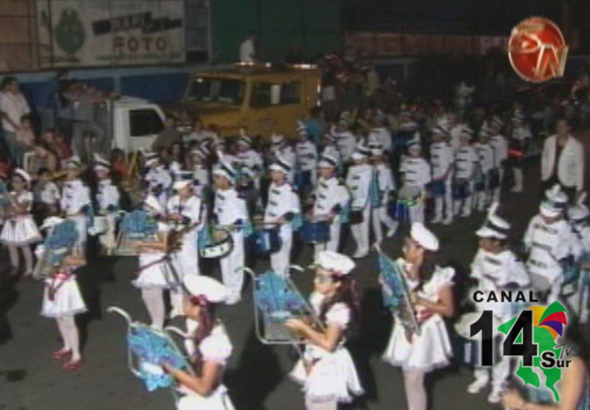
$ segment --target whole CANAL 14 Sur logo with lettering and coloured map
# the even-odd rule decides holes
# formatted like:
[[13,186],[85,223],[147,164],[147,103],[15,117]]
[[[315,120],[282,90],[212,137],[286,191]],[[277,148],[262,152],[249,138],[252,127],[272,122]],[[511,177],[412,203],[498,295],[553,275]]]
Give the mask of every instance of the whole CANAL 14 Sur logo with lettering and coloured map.
[[[524,302],[521,293],[519,291],[515,299]],[[473,296],[476,302],[483,302],[481,295],[476,293]],[[506,295],[496,297],[495,301],[500,302],[504,296]],[[512,295],[506,297],[506,300],[513,302]],[[490,301],[490,297],[487,301]],[[494,297],[491,301],[494,301]],[[528,302],[538,302],[538,300],[531,295]],[[566,313],[567,310],[559,302],[553,302],[549,306],[530,306],[496,328],[496,335],[501,336],[500,355],[520,358],[514,374],[522,379],[525,385],[536,388],[542,388],[540,376],[543,375],[545,388],[553,393],[555,401],[559,401],[556,383],[561,379],[563,368],[567,368],[571,362],[568,355],[576,348],[568,343],[559,344],[557,340],[558,336],[563,336],[565,326],[568,324]],[[470,326],[472,338],[481,335],[481,357],[479,358],[481,366],[493,366],[500,359],[494,358],[493,326],[491,310],[484,310]]]

